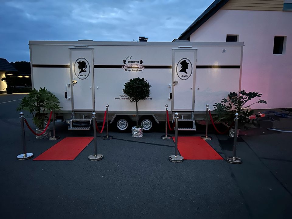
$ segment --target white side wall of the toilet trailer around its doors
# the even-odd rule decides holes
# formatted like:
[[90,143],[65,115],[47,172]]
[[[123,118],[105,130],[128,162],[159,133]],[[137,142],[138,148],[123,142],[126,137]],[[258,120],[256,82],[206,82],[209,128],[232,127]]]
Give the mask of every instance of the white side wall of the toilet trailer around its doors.
[[[136,77],[145,78],[151,85],[151,94],[149,99],[138,102],[139,111],[148,114],[160,112],[164,115],[165,104],[169,105],[170,110],[174,101],[170,99],[170,93],[174,91],[176,95],[173,89],[173,68],[178,66],[176,63],[181,65],[183,59],[191,59],[192,83],[182,87],[189,89],[191,95],[185,98],[182,92],[180,96],[175,96],[181,101],[179,105],[182,105],[177,106],[176,110],[204,112],[206,103],[212,106],[213,101],[220,101],[231,89],[239,89],[242,45],[223,42],[30,41],[33,85],[36,89],[46,87],[53,92],[61,102],[62,111],[90,111],[88,107],[82,107],[84,102],[94,103],[94,110],[99,113],[105,110],[106,104],[109,104],[111,112],[134,113],[135,103],[130,103],[123,94],[123,85]],[[223,49],[225,53],[222,53]],[[89,76],[93,76],[92,96],[83,95],[83,88],[76,91],[76,97],[72,94],[72,90],[75,92],[74,86],[81,83],[77,81],[72,86],[72,81],[76,80],[76,74],[72,71],[76,66],[72,65],[81,56],[76,53],[71,64],[70,51],[78,50],[93,51],[93,68],[92,64],[88,64],[91,68]],[[174,64],[173,51],[180,52],[179,60]],[[67,88],[67,96],[71,99],[65,98],[66,84],[71,85]],[[197,87],[200,89],[197,90]],[[72,101],[74,103],[76,99],[79,99],[79,105],[72,107]],[[185,106],[186,103],[190,103],[190,106]]]

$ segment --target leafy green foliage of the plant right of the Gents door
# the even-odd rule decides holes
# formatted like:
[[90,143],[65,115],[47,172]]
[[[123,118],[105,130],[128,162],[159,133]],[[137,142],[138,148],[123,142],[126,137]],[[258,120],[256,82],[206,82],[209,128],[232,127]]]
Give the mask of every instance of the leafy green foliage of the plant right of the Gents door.
[[249,107],[255,103],[265,103],[265,100],[259,99],[257,102],[249,104],[248,102],[256,97],[261,97],[262,94],[259,92],[245,92],[241,90],[239,94],[237,92],[230,92],[228,99],[224,98],[220,103],[215,103],[214,110],[216,114],[213,116],[214,120],[218,123],[225,123],[228,126],[234,121],[235,113],[238,113],[238,122],[246,123],[249,122],[249,116],[254,114],[254,110],[245,110],[243,108]]

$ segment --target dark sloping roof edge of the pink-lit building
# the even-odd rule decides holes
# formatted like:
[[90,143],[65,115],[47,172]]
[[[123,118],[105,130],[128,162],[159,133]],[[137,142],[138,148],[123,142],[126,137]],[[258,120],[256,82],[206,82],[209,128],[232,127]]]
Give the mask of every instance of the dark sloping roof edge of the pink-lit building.
[[186,29],[185,32],[183,32],[179,36],[179,40],[189,40],[190,35],[195,32],[200,26],[203,25],[211,16],[213,16],[219,9],[222,8],[223,5],[225,5],[228,2],[228,0],[215,0],[204,12],[201,14],[194,23],[191,24],[191,26]]

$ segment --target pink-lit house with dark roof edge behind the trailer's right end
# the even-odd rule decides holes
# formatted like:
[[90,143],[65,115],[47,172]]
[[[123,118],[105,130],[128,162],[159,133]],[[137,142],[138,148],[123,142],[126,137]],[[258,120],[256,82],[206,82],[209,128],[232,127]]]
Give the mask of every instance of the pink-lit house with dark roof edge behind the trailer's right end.
[[290,108],[291,21],[291,0],[215,0],[178,39],[244,42],[240,87],[268,102],[252,108]]

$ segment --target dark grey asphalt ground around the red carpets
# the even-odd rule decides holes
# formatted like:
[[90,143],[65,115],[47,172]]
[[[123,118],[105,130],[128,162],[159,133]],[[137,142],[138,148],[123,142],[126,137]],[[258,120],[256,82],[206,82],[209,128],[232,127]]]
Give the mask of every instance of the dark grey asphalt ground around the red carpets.
[[[291,119],[271,116],[271,122],[242,128],[236,155],[242,164],[225,160],[169,162],[172,140],[163,140],[164,126],[133,138],[110,131],[112,140],[97,136],[98,153],[89,161],[93,141],[73,161],[19,161],[23,153],[19,112],[24,95],[0,95],[1,218],[291,218]],[[12,101],[12,102],[9,102]],[[6,103],[5,103],[6,102]],[[27,115],[27,112],[25,112]],[[33,126],[31,116],[26,116]],[[34,157],[71,136],[56,122],[61,139],[36,139],[25,127],[27,152]],[[223,157],[232,155],[233,138],[209,126],[208,143]],[[174,136],[174,133],[169,133]],[[202,136],[204,126],[179,136]]]

